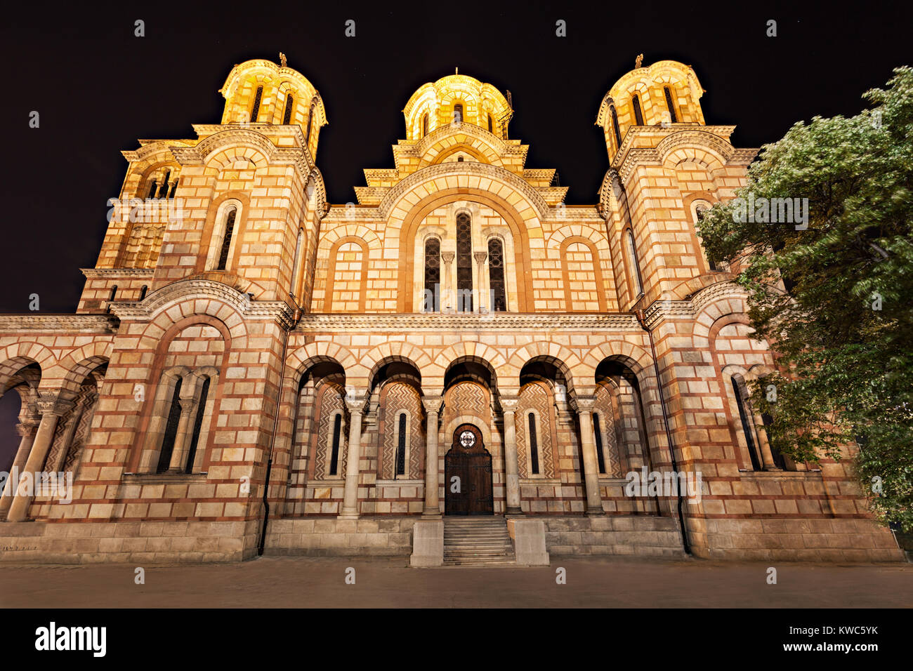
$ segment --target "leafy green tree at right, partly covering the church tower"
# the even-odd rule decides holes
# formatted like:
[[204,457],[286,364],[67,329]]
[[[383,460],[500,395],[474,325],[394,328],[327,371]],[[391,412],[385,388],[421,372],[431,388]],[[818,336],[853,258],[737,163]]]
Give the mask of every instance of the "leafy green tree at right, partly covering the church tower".
[[[771,444],[816,462],[855,443],[876,516],[913,530],[913,69],[887,84],[864,94],[871,109],[800,121],[765,145],[699,233],[738,273],[755,337],[778,354],[781,370],[752,389]],[[764,198],[807,198],[807,227],[795,211],[792,223],[759,221]]]

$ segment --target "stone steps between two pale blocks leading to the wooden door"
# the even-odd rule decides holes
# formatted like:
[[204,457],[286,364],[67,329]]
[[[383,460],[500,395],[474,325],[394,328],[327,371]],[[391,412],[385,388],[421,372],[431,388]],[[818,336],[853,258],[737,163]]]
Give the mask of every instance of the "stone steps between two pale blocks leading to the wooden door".
[[515,566],[513,541],[502,517],[446,517],[444,566]]

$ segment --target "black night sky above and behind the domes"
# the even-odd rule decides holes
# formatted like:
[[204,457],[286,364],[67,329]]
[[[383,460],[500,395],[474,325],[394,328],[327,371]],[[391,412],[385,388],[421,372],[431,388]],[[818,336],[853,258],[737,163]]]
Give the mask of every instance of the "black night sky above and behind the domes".
[[[94,266],[107,200],[120,193],[121,150],[219,122],[217,90],[249,58],[278,61],[283,51],[320,91],[330,125],[317,164],[331,203],[355,201],[362,169],[393,167],[406,101],[457,66],[511,91],[510,137],[530,145],[527,167],[557,168],[571,187],[568,204],[594,204],[608,168],[596,112],[639,53],[645,65],[693,66],[707,89],[706,120],[736,124],[737,147],[776,141],[814,115],[853,115],[866,89],[913,63],[909,4],[852,12],[795,2],[124,5],[32,3],[0,27],[0,311],[27,311],[31,293],[44,313],[76,308],[79,268]],[[136,19],[145,37],[133,36]],[[356,37],[344,36],[347,19]],[[567,37],[555,36],[558,19]],[[769,19],[777,37],[765,35]],[[32,110],[37,130],[28,127]]]

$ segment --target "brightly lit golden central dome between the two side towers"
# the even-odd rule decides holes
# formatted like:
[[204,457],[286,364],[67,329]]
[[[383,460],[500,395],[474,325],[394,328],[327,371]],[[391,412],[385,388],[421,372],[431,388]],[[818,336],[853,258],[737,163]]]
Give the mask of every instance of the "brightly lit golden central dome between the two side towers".
[[403,110],[407,140],[421,140],[454,122],[471,123],[506,140],[512,115],[509,100],[498,89],[459,74],[423,84]]

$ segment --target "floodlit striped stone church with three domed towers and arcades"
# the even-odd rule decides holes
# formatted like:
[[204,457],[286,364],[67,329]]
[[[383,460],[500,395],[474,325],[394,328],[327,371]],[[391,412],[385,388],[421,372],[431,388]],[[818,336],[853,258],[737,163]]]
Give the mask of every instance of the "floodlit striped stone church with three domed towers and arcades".
[[320,92],[284,56],[236,65],[219,122],[122,152],[75,313],[0,315],[0,561],[900,561],[852,451],[796,463],[751,407],[775,362],[697,223],[758,150],[703,92],[638,58],[572,205],[509,92],[448,75],[330,204]]

